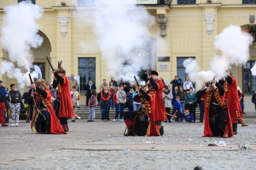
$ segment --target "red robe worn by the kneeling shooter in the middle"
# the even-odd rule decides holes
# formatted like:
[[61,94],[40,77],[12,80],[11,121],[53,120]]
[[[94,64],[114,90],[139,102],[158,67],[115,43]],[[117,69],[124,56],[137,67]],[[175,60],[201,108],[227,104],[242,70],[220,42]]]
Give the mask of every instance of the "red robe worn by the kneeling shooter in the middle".
[[[147,133],[145,136],[160,136],[159,127],[155,124],[155,104],[156,104],[156,97],[155,94],[150,91],[148,93],[150,96],[150,101],[145,100],[145,109],[147,111],[147,115],[150,118],[150,123],[148,125]],[[143,100],[143,97],[139,97],[137,100],[138,103],[140,103]],[[135,119],[138,116],[135,117]],[[135,122],[135,121],[134,121]]]

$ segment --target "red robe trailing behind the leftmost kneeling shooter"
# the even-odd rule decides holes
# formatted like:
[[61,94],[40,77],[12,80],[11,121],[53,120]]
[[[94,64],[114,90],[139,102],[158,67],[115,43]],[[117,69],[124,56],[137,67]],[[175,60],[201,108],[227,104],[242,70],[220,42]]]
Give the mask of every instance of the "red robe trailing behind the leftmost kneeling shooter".
[[[46,108],[48,109],[50,113],[50,133],[51,134],[67,134],[64,130],[61,124],[59,123],[58,118],[56,117],[54,110],[52,108],[52,95],[51,91],[49,89],[45,89],[47,93],[47,97],[43,98],[40,95],[41,100],[46,104]],[[38,96],[38,92],[36,92],[36,96]],[[38,99],[38,98],[37,98]],[[35,114],[33,114],[32,122],[31,122],[31,130],[35,129],[35,123],[33,123],[33,120],[35,119]]]

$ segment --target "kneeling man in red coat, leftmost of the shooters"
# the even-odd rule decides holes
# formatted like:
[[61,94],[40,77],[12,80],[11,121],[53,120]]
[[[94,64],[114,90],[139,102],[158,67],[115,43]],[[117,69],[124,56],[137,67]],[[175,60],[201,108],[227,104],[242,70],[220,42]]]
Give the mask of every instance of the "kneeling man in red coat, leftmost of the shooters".
[[67,134],[53,111],[52,95],[50,90],[46,89],[47,84],[45,80],[38,80],[36,84],[32,84],[35,91],[33,96],[30,95],[28,97],[28,102],[36,103],[34,105],[31,130],[33,133],[41,134]]

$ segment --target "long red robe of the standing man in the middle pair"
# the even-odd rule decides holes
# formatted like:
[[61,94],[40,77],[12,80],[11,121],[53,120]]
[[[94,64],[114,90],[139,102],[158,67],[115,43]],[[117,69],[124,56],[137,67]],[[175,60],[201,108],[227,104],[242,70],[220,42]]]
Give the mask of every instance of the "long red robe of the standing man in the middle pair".
[[156,95],[156,106],[155,106],[155,121],[167,121],[165,104],[163,102],[163,82],[158,79],[155,81],[157,90],[151,88],[150,90]]

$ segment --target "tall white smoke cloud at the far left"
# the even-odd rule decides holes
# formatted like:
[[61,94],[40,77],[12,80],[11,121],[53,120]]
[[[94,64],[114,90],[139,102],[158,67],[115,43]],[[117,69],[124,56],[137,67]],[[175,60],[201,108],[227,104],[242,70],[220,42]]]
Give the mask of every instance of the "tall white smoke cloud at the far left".
[[[39,47],[43,42],[35,22],[43,15],[43,9],[30,1],[23,1],[5,7],[4,12],[0,41],[11,62],[2,62],[1,73],[6,73],[9,78],[15,78],[21,87],[24,87],[30,81],[24,78],[28,75],[22,73],[20,68],[26,71],[32,68],[33,54],[30,48]],[[15,68],[13,63],[20,68]]]

